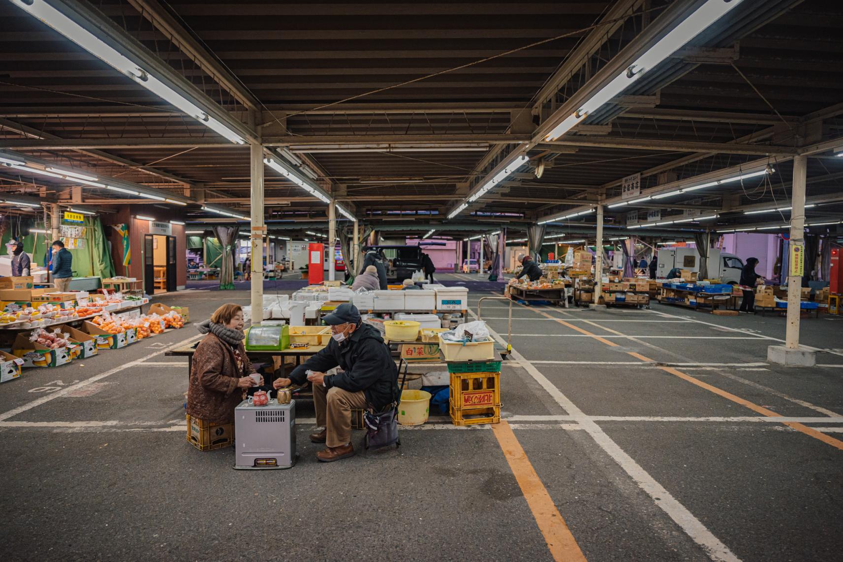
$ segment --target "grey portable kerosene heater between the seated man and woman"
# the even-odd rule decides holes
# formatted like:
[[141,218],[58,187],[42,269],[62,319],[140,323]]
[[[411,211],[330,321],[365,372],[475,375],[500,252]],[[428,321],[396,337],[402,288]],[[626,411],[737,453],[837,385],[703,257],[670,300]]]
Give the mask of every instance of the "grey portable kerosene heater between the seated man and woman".
[[296,401],[255,406],[244,400],[234,409],[234,468],[293,468],[296,453]]

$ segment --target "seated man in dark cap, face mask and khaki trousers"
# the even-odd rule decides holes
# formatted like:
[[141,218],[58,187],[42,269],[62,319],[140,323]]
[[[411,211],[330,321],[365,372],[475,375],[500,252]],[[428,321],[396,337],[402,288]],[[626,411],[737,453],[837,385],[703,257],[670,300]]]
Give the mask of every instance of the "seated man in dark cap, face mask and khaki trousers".
[[[278,378],[273,386],[290,383],[313,384],[316,424],[324,430],[310,436],[314,443],[325,443],[316,453],[324,463],[354,454],[352,409],[384,410],[398,399],[398,368],[377,329],[362,324],[353,304],[341,304],[325,316],[331,340],[324,350],[296,367],[289,378]],[[325,372],[340,367],[336,375]]]

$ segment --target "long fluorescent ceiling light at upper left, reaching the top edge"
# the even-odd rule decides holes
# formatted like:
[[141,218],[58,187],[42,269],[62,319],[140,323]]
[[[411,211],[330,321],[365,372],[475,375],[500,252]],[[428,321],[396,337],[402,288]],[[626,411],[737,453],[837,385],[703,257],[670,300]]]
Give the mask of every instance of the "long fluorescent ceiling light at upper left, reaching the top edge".
[[213,131],[217,131],[217,133],[226,137],[229,141],[244,144],[244,139],[237,133],[210,115],[207,115],[196,104],[191,103],[184,96],[169,88],[169,86],[159,81],[158,78],[150,76],[148,72],[137,67],[137,63],[132,62],[126,56],[121,55],[120,52],[106,45],[103,40],[99,40],[99,38],[91,34],[87,29],[84,29],[81,25],[68,18],[56,8],[53,8],[50,4],[42,0],[35,0],[35,2],[32,0],[13,0],[13,3],[25,12],[35,16],[35,18],[43,21],[52,29],[56,29],[56,31],[67,37],[67,39],[72,40],[103,62],[110,64],[110,66],[126,74],[126,76],[132,78],[153,94],[158,95],[158,97],[164,99],[169,104],[175,105],[175,107],[184,111],[187,115],[191,115],[191,117],[201,121]]

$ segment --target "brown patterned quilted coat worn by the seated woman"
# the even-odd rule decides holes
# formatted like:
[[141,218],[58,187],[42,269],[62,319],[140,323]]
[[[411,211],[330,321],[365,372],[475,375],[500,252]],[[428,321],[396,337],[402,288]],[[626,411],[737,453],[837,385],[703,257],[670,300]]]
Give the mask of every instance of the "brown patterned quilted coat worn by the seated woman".
[[234,421],[234,408],[243,400],[237,380],[255,372],[241,341],[243,368],[238,369],[234,350],[216,335],[206,335],[193,354],[191,380],[187,387],[187,413],[212,424]]

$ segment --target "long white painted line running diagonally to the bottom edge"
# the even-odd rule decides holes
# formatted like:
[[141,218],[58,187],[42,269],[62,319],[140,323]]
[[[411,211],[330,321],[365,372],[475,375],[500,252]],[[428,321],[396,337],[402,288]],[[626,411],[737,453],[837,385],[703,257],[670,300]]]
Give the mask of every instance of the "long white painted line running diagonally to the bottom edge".
[[[474,314],[473,311],[470,311],[470,313],[476,318],[476,314]],[[496,340],[498,340],[499,343],[506,345],[506,341],[504,341],[497,332],[491,328],[489,329],[489,332]],[[518,351],[513,350],[512,356],[515,361],[518,361],[518,363],[520,363],[522,367],[529,372],[536,383],[539,383],[542,388],[545,388],[545,391],[556,400],[556,404],[559,404],[562,409],[565,409],[565,411],[568,412],[568,414],[575,416],[585,415],[583,410],[577,408],[576,404],[568,399],[559,388],[556,388],[556,385],[550,383],[550,380],[548,380],[547,377],[534,367],[534,365],[524,359],[524,356],[518,353]],[[626,474],[629,474],[631,479],[652,498],[655,504],[661,508],[668,517],[673,519],[674,522],[683,531],[685,531],[685,533],[695,543],[699,544],[712,560],[721,560],[725,562],[736,562],[740,560],[725,544],[715,537],[714,534],[711,533],[711,531],[709,531],[699,519],[694,517],[693,513],[688,511],[685,506],[679,503],[679,500],[676,500],[662,484],[659,484],[656,479],[653,479],[652,476],[641,467],[641,465],[636,463],[635,459],[631,458],[623,449],[621,449],[618,444],[615,443],[611,437],[609,437],[609,435],[607,435],[603,429],[597,425],[595,421],[583,419],[580,423],[582,424],[583,429],[588,432],[588,435],[592,437],[594,442],[596,442],[599,447],[609,455],[609,457],[613,458],[615,463],[618,463],[620,468],[623,468]]]

